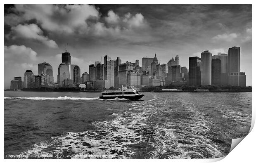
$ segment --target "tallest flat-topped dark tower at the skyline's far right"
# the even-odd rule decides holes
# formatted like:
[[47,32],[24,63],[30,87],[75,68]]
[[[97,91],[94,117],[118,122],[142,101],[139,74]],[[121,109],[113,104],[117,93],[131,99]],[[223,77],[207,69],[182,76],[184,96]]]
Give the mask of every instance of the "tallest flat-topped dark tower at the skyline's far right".
[[232,86],[239,85],[240,75],[240,47],[231,47],[228,49],[228,84]]

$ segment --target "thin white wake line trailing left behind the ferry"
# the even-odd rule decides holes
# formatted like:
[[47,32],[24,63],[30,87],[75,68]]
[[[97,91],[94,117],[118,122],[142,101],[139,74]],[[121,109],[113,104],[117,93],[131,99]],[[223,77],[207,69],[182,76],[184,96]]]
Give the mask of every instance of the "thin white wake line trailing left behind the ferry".
[[103,101],[109,101],[109,100],[127,100],[127,99],[100,99],[99,97],[5,97],[5,99],[29,99],[29,100],[36,100],[36,101],[45,101],[45,100],[103,100]]

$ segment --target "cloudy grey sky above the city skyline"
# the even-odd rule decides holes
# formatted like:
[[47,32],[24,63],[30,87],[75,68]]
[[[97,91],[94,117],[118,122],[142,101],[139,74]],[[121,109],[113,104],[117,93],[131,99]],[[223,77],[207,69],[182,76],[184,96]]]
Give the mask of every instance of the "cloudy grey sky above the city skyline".
[[[89,73],[105,55],[122,63],[179,55],[180,65],[209,50],[240,47],[240,72],[251,85],[251,5],[5,5],[5,89],[26,70],[52,65],[57,82],[61,54]],[[102,60],[103,61],[103,60]]]

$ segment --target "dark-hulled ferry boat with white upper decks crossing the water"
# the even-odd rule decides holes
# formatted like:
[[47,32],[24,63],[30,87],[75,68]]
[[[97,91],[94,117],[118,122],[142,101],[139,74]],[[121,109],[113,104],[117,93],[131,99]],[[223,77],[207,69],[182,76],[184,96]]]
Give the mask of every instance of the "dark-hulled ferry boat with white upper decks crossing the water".
[[120,90],[107,90],[101,92],[100,99],[141,99],[145,94],[139,93],[134,87],[122,87]]

